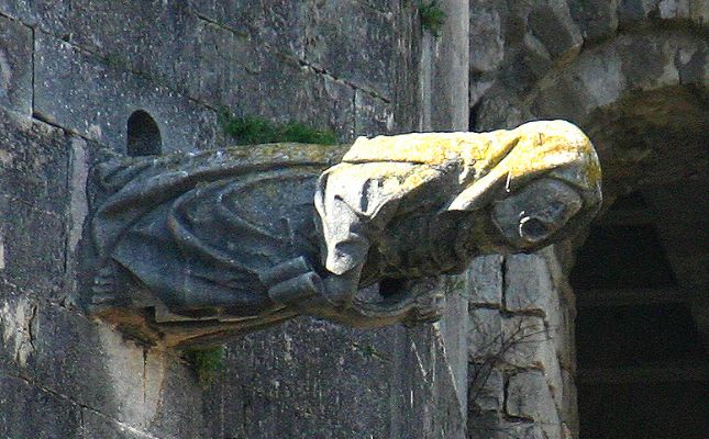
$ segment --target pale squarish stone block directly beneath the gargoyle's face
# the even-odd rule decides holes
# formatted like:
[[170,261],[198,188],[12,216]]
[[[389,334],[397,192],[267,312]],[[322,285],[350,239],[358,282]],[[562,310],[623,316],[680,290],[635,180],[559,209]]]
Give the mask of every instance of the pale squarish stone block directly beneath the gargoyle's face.
[[557,294],[544,256],[510,255],[505,264],[505,307],[511,312],[546,314]]

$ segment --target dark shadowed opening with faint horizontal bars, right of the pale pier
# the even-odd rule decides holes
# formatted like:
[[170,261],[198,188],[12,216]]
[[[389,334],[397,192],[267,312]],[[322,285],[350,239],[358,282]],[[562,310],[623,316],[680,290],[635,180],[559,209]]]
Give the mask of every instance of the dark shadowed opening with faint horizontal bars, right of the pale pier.
[[[645,188],[618,199],[579,249],[569,281],[581,439],[705,437],[709,357],[683,266],[672,263],[687,246],[667,239],[704,228],[687,213],[699,204],[674,187]],[[674,211],[684,214],[666,218]]]

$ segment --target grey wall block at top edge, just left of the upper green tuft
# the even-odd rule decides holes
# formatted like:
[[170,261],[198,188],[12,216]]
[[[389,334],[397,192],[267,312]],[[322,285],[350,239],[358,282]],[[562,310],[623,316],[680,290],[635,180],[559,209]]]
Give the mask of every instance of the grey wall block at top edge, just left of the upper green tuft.
[[392,99],[397,44],[391,9],[355,0],[306,4],[304,60],[357,88]]

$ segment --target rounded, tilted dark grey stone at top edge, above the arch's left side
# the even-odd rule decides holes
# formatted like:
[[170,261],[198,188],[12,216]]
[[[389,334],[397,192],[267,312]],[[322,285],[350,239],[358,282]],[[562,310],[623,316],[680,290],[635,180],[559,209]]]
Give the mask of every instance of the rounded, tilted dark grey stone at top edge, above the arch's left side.
[[584,43],[565,2],[535,8],[530,13],[529,25],[534,36],[544,44],[552,59],[558,63],[576,56]]

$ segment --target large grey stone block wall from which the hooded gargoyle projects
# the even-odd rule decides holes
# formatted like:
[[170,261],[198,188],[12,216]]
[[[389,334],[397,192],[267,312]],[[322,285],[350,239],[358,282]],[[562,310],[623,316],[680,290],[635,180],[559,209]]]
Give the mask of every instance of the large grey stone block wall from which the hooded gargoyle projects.
[[0,436],[465,437],[464,294],[433,326],[244,337],[208,389],[75,301],[87,173],[101,148],[125,154],[134,111],[164,153],[228,142],[222,106],[343,142],[462,130],[468,8],[445,8],[433,38],[413,2],[0,0]]

